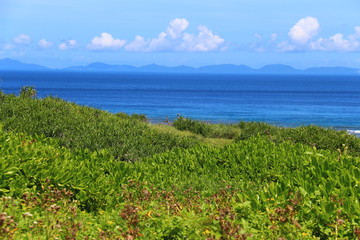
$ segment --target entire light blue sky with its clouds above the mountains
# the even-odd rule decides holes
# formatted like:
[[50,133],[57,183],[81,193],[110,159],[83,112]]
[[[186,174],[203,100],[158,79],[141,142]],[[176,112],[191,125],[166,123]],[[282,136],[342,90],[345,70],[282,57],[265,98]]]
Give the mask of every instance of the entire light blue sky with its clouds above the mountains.
[[0,58],[360,68],[360,1],[0,0]]

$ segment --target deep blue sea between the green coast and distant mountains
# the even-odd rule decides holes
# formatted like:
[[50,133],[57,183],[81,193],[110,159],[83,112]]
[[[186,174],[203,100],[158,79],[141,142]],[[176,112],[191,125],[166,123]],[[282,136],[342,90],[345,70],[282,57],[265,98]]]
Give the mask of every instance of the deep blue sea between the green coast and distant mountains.
[[84,72],[0,72],[0,89],[57,96],[113,113],[177,114],[209,122],[316,124],[360,133],[360,75],[214,75]]

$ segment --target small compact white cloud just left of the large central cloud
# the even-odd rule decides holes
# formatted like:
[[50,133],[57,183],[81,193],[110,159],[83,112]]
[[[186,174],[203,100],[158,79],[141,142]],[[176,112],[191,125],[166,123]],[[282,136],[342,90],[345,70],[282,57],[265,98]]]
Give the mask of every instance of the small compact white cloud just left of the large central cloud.
[[87,46],[90,50],[118,50],[125,45],[126,41],[114,39],[109,33],[101,33],[100,37],[96,36]]

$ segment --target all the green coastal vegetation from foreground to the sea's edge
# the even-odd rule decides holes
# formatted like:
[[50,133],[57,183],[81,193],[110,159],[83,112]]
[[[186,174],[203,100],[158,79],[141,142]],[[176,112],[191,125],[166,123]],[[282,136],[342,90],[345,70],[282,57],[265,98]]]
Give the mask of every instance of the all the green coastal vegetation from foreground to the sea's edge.
[[344,132],[1,96],[1,239],[360,239]]

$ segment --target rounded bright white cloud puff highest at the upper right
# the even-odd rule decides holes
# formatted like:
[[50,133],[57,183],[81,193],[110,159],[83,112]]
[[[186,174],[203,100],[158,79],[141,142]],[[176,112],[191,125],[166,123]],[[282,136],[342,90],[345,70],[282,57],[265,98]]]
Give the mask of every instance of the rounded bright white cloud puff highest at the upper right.
[[304,45],[317,35],[319,28],[320,24],[316,18],[302,18],[290,29],[290,40],[297,45]]

